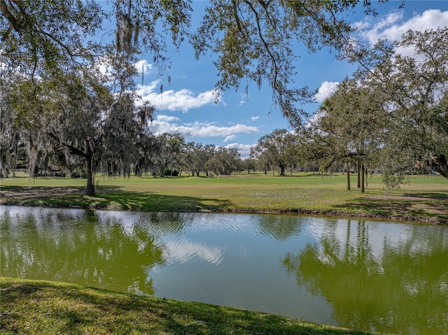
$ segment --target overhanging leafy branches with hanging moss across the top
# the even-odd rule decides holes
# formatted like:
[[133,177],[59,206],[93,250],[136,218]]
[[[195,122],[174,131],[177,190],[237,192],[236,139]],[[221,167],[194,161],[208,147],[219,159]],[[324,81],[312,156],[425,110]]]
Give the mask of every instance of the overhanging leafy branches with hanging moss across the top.
[[[267,82],[274,106],[300,124],[305,114],[300,103],[310,101],[314,91],[295,87],[297,55],[291,45],[342,48],[352,31],[346,11],[362,3],[366,13],[374,13],[367,0],[214,0],[200,27],[190,32],[190,2],[115,0],[108,11],[94,0],[3,0],[0,61],[34,78],[43,69],[66,69],[110,53],[132,62],[133,56],[147,52],[162,73],[167,38],[179,46],[188,36],[197,57],[207,51],[218,55],[218,88],[239,87],[243,78],[258,87]],[[103,31],[108,20],[116,25],[115,38]]]

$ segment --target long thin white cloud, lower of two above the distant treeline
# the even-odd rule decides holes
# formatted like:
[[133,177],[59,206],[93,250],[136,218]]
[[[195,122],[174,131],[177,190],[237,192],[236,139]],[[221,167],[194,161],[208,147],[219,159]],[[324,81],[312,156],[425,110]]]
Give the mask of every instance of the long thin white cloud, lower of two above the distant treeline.
[[[257,127],[246,126],[245,124],[233,124],[230,127],[216,126],[215,122],[193,122],[193,123],[177,123],[179,118],[157,115],[156,119],[151,122],[150,129],[155,134],[168,132],[171,134],[181,134],[184,137],[216,137],[235,136],[235,134],[255,134],[258,133]],[[230,141],[230,140],[229,140]]]

